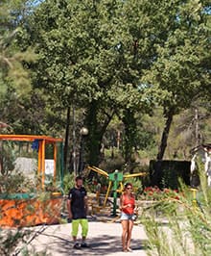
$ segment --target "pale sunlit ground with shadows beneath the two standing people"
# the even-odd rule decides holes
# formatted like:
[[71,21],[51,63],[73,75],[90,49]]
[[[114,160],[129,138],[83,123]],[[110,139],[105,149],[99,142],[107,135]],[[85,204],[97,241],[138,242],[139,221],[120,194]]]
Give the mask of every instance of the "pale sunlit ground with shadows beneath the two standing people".
[[[40,226],[31,228],[33,233],[40,230]],[[44,229],[44,230],[43,230]],[[81,231],[81,230],[80,230]],[[81,250],[73,249],[71,240],[71,223],[49,225],[42,228],[31,243],[31,249],[45,251],[47,255],[70,256],[70,255],[140,255],[146,256],[147,236],[142,225],[134,225],[132,231],[132,252],[122,252],[121,247],[121,224],[112,221],[89,220],[89,233],[87,243],[90,248]]]

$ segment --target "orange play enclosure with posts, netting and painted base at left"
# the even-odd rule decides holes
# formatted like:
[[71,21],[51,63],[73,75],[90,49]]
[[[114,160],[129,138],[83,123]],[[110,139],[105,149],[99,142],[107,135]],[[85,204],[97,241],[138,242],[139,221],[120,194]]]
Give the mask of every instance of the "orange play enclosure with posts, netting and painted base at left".
[[[62,147],[62,139],[47,136],[0,135],[1,180],[19,171],[17,173],[23,172],[34,182],[33,192],[8,192],[4,190],[3,182],[0,183],[1,227],[59,222],[63,187]],[[34,163],[35,169],[30,169],[32,165],[24,168],[26,163]],[[45,193],[50,182],[54,190]]]

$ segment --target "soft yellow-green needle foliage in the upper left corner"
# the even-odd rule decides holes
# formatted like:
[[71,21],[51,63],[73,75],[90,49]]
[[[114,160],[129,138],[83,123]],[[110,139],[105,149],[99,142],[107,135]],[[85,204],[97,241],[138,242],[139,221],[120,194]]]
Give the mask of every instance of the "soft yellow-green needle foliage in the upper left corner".
[[[31,90],[29,73],[23,62],[35,61],[35,52],[32,48],[21,51],[16,44],[16,38],[21,33],[19,27],[21,10],[25,9],[27,1],[6,1],[0,5],[1,26],[0,31],[0,71],[4,84],[16,89],[20,95],[23,91]],[[19,20],[18,20],[19,19]],[[4,92],[4,91],[1,91]]]

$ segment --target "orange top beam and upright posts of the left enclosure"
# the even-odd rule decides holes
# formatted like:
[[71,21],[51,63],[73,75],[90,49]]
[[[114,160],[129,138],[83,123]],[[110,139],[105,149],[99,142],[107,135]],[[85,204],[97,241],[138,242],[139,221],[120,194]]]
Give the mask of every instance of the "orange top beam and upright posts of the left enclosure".
[[57,163],[57,145],[56,142],[62,142],[62,139],[55,139],[48,136],[35,135],[0,135],[0,141],[35,141],[39,140],[38,146],[38,168],[37,173],[41,176],[42,189],[45,184],[45,147],[46,144],[54,144],[54,181],[56,181],[56,163]]

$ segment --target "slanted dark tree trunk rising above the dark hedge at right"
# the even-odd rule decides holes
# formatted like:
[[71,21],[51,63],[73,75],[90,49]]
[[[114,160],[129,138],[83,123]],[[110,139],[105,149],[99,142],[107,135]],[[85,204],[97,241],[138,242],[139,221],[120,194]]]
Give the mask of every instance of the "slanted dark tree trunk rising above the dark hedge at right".
[[163,129],[163,134],[162,134],[162,138],[161,138],[161,141],[160,141],[159,151],[158,151],[158,154],[157,154],[157,157],[156,157],[156,159],[158,161],[163,159],[163,156],[164,156],[164,153],[165,153],[165,150],[166,150],[166,147],[167,147],[167,141],[168,141],[168,138],[169,138],[169,131],[170,131],[171,124],[172,124],[172,121],[173,121],[173,116],[174,116],[174,109],[170,109],[166,113],[165,116],[167,117],[167,119],[166,119],[165,126],[164,126],[164,129]]

